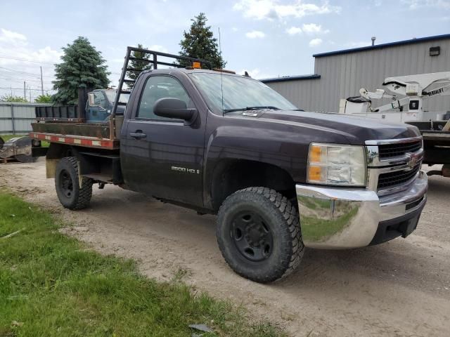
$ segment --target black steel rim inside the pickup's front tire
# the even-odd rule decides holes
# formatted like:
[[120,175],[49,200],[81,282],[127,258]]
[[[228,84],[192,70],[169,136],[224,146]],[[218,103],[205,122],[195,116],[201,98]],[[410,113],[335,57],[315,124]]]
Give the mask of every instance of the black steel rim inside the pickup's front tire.
[[269,258],[274,248],[269,225],[254,211],[242,211],[233,217],[231,239],[240,255],[254,262]]

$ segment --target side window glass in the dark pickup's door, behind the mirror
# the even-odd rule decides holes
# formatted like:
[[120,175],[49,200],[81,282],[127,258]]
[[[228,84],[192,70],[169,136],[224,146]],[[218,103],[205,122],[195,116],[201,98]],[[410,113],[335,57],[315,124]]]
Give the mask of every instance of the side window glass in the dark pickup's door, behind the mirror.
[[160,98],[178,98],[179,100],[184,100],[188,107],[193,105],[191,98],[189,98],[179,81],[168,76],[152,76],[146,81],[136,117],[168,119],[153,113],[153,105]]

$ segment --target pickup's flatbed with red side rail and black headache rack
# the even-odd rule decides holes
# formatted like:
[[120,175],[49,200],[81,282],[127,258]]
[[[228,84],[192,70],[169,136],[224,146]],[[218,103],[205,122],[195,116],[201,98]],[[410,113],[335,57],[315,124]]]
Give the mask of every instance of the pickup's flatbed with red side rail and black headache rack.
[[[141,57],[136,57],[139,55]],[[89,89],[79,89],[78,105],[65,107],[43,107],[36,110],[36,123],[32,123],[30,137],[47,140],[52,143],[65,143],[70,145],[81,145],[98,149],[119,149],[119,133],[124,119],[124,107],[127,100],[122,95],[129,95],[139,74],[144,70],[135,69],[130,66],[131,61],[147,64],[153,70],[160,66],[186,68],[193,67],[193,62],[198,63],[195,67],[212,69],[212,63],[199,58],[188,58],[186,56],[150,51],[143,48],[127,47],[127,55],[124,58],[122,73],[120,74],[119,86],[110,118],[104,122],[86,123],[87,92]],[[146,69],[148,70],[148,69]],[[129,74],[135,76],[129,77]],[[130,84],[129,90],[124,84]],[[118,107],[120,109],[118,109]],[[117,132],[119,131],[119,132]]]

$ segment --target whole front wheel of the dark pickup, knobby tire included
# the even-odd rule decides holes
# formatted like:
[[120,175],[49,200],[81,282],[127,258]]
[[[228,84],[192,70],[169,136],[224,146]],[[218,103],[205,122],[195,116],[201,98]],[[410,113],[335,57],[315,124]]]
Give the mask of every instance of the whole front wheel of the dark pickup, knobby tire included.
[[217,242],[231,269],[261,283],[289,275],[304,251],[297,209],[266,187],[226,198],[217,218]]

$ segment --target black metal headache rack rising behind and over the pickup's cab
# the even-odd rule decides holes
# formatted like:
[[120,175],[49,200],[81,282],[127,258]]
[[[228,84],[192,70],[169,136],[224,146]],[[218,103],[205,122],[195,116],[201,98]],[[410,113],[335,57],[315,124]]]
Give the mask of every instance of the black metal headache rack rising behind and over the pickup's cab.
[[[131,56],[131,53],[134,53],[134,52],[143,53],[144,55],[150,55],[150,59],[136,58],[134,56]],[[162,60],[158,59],[158,56],[160,56],[162,58],[172,59],[174,62],[169,63],[169,62],[162,61]],[[143,72],[143,70],[136,70],[134,68],[129,67],[130,60],[146,62],[148,64],[153,65],[153,69],[158,69],[158,65],[166,65],[169,67],[184,68],[184,67],[186,67],[186,63],[193,65],[193,62],[199,62],[200,65],[205,65],[208,69],[212,69],[212,62],[207,61],[207,60],[201,60],[200,58],[188,58],[186,56],[162,53],[160,51],[150,51],[148,49],[143,49],[143,48],[127,47],[127,55],[125,55],[124,66],[122,67],[122,74],[120,74],[119,86],[117,88],[117,95],[115,98],[113,111],[111,112],[111,116],[110,116],[110,140],[115,139],[115,133],[116,133],[115,115],[117,112],[117,106],[118,105],[127,105],[127,103],[120,102],[120,95],[131,93],[131,91],[124,90],[124,88],[123,88],[124,83],[134,84],[137,79],[137,76],[136,76],[136,79],[127,78],[127,73],[133,72],[134,74],[139,75],[139,74],[141,74],[141,72]],[[185,61],[184,62],[185,64],[178,64],[178,63],[176,63],[176,61]]]

